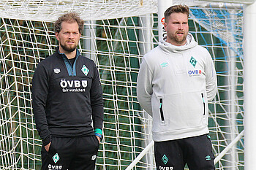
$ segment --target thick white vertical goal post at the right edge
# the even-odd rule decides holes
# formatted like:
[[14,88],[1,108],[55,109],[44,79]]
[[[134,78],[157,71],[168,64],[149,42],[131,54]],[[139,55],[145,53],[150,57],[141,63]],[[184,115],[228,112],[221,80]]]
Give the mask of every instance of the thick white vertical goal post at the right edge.
[[255,88],[255,53],[256,53],[256,2],[244,9],[244,129],[245,129],[245,169],[255,169],[253,155],[256,152],[256,88]]

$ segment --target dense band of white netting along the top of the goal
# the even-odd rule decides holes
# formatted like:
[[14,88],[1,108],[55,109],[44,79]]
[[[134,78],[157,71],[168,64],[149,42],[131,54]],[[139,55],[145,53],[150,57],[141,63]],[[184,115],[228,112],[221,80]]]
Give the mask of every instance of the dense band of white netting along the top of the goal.
[[[174,0],[187,5],[206,4],[204,1]],[[66,12],[78,12],[84,20],[104,20],[157,13],[157,0],[2,0],[0,17],[21,20],[55,21]]]

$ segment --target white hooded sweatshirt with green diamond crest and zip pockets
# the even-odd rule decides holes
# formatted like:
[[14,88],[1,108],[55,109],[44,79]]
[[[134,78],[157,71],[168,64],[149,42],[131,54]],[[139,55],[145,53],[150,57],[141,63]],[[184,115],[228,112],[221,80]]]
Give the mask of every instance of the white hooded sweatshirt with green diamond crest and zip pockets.
[[138,101],[153,117],[153,139],[208,134],[208,101],[217,93],[211,55],[192,34],[184,46],[165,39],[143,57],[138,74]]

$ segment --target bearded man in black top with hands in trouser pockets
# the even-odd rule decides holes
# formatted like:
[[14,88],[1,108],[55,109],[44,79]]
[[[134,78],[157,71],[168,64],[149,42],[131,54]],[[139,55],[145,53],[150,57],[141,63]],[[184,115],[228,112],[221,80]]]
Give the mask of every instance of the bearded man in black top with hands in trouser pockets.
[[95,167],[102,139],[103,102],[94,61],[77,49],[83,20],[75,12],[55,23],[59,47],[37,65],[32,106],[42,138],[42,169]]

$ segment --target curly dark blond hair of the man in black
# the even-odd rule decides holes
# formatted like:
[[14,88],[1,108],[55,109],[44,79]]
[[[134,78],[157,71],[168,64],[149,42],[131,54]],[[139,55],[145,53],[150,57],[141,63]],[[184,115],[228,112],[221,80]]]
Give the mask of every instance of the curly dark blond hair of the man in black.
[[82,34],[83,32],[83,23],[84,21],[79,17],[78,13],[76,12],[69,12],[65,15],[62,15],[59,17],[58,20],[56,20],[56,22],[54,23],[54,31],[56,33],[59,33],[59,31],[61,31],[61,23],[62,22],[68,22],[68,23],[78,23],[78,29],[79,29],[79,33]]

